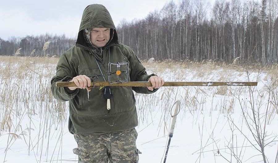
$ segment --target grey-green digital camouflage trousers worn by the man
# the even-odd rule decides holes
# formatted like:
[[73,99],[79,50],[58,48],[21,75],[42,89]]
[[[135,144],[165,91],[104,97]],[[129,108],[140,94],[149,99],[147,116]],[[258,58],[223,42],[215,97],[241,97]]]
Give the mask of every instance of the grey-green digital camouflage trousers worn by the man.
[[137,131],[126,130],[111,134],[74,134],[78,148],[78,163],[137,163],[139,160],[136,148]]

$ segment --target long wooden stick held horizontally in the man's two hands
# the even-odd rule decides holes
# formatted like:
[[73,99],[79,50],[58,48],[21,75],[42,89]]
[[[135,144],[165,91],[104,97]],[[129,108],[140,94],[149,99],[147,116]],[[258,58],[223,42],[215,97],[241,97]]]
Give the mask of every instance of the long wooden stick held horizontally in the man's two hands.
[[[257,86],[258,82],[165,82],[163,86]],[[151,82],[91,82],[91,86],[152,86]],[[76,86],[74,82],[56,82],[57,87]]]

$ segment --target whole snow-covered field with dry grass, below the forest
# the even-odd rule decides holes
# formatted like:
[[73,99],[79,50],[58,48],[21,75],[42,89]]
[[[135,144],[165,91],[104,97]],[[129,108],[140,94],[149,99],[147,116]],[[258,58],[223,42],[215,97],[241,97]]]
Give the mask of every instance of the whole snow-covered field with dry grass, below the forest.
[[[53,58],[0,57],[0,161],[77,162],[72,152],[77,143],[67,129],[68,102],[57,102],[49,89],[56,63]],[[180,111],[166,162],[263,162],[259,140],[267,162],[277,162],[277,65],[249,67],[248,77],[242,67],[214,63],[144,65],[165,81],[249,77],[258,86],[161,87],[152,95],[135,94],[139,162],[163,162],[177,100]]]

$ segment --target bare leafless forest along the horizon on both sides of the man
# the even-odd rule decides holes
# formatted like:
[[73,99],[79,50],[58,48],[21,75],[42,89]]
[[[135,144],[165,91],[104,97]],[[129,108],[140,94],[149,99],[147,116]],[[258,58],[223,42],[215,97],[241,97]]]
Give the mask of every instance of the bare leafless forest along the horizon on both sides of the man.
[[[140,59],[233,62],[278,62],[278,0],[206,0],[167,2],[144,19],[117,26],[120,42],[133,48]],[[43,51],[45,42],[49,47]],[[0,38],[0,55],[61,55],[75,44],[65,35]]]

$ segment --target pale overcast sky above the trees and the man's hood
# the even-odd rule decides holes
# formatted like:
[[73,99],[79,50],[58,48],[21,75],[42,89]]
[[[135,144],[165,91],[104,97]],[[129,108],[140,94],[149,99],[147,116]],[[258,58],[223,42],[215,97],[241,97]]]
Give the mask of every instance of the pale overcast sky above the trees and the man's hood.
[[[76,37],[83,10],[89,4],[103,4],[110,12],[114,24],[121,20],[142,19],[155,9],[160,10],[169,0],[1,0],[0,37],[65,34]],[[215,0],[209,0],[211,4]],[[179,4],[179,0],[174,0]]]

